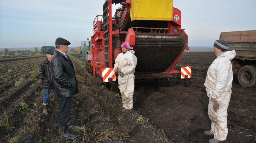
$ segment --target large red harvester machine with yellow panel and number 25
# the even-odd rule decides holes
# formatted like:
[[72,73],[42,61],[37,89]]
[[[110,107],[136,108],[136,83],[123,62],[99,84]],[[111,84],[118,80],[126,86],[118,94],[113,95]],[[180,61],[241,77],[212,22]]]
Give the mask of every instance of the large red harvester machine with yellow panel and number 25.
[[[117,3],[122,6],[112,16],[112,4]],[[173,74],[181,73],[174,67],[182,52],[189,50],[184,30],[181,11],[172,7],[172,0],[106,0],[103,15],[94,19],[91,43],[82,42],[80,58],[102,81],[102,69],[114,67],[122,42],[128,42],[138,59],[135,81],[159,79],[168,86]]]

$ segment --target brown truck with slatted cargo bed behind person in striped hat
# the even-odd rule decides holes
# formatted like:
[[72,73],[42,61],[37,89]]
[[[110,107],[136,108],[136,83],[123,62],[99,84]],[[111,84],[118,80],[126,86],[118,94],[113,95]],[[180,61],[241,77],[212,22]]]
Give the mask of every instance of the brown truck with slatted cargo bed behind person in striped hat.
[[243,87],[256,87],[256,30],[221,32],[220,40],[228,43],[236,56],[232,63],[233,74]]

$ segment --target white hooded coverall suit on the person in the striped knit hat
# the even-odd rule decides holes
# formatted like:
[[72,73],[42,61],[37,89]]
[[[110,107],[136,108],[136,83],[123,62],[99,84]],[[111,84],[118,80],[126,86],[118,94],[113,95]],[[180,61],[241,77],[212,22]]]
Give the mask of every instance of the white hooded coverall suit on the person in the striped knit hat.
[[[214,138],[219,141],[226,140],[228,135],[227,128],[227,109],[231,96],[231,87],[233,81],[233,72],[231,61],[235,57],[235,51],[227,51],[221,55],[217,55],[217,59],[213,61],[207,71],[204,82],[207,96],[210,98],[208,105],[208,115],[212,121],[211,132]],[[215,98],[219,104],[219,110],[214,112],[213,101]]]

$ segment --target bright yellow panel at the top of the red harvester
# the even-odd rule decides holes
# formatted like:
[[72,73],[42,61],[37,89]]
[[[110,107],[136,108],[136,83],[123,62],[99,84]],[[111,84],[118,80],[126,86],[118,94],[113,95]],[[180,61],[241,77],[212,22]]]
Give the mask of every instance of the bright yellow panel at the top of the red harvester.
[[172,21],[172,0],[131,0],[131,21]]

